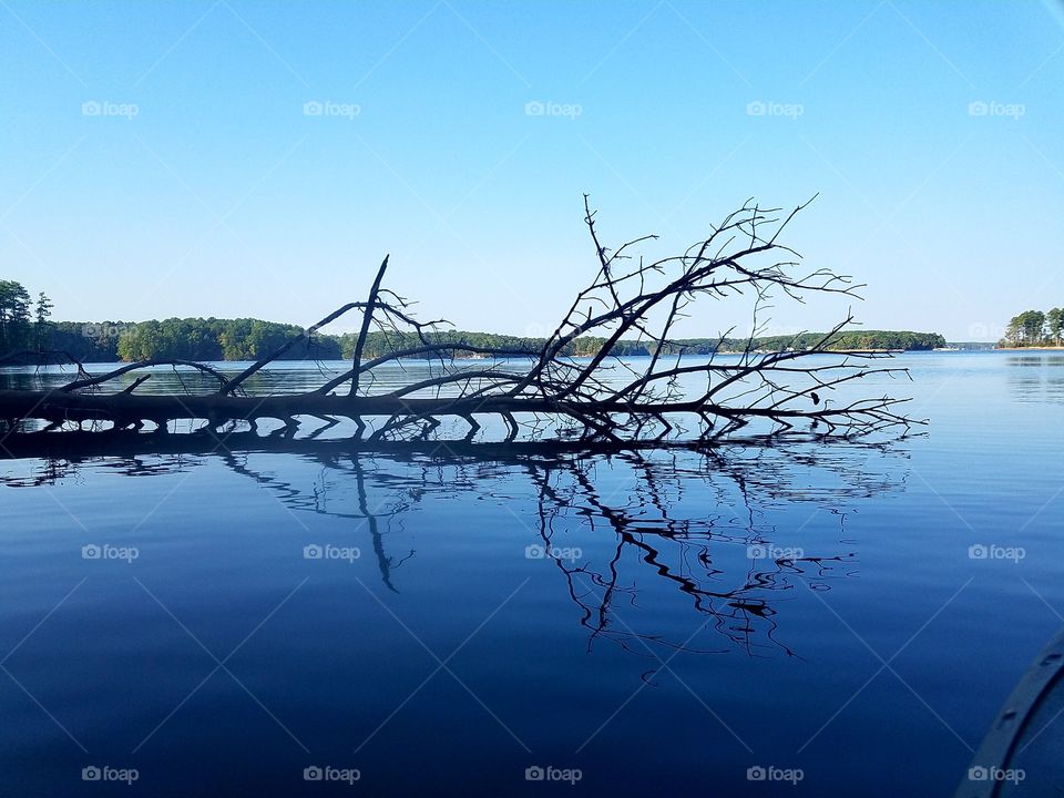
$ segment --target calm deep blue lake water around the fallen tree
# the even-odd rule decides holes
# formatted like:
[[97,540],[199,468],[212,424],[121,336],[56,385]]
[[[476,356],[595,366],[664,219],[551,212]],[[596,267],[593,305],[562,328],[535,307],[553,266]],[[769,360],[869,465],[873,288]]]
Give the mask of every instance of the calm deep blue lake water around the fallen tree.
[[1064,355],[897,365],[887,448],[0,461],[0,795],[950,795],[1064,624]]

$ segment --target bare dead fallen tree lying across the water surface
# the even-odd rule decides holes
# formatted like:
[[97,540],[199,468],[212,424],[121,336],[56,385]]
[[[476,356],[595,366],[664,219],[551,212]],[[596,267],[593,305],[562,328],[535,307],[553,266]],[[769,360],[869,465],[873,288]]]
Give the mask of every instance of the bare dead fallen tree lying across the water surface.
[[[867,362],[886,357],[883,352],[849,352],[829,360],[818,357],[829,352],[830,342],[852,316],[812,346],[806,342],[804,349],[756,348],[761,324],[758,314],[774,295],[802,301],[812,294],[857,296],[860,287],[827,269],[795,274],[800,258],[778,243],[778,237],[804,207],[784,217],[777,215],[778,209],[746,203],[682,254],[644,260],[634,256],[636,247],[656,236],[607,249],[600,242],[595,213],[585,197],[585,223],[597,272],[536,349],[441,340],[447,321],[419,321],[409,300],[383,287],[386,257],[365,301],[334,310],[238,375],[223,374],[207,364],[154,359],[91,376],[78,364],[78,377],[60,387],[0,390],[0,419],[10,438],[82,432],[86,422],[96,432],[139,431],[153,424],[156,432],[165,433],[172,422],[186,419],[202,420],[203,431],[228,427],[231,432],[239,422],[254,432],[260,420],[272,419],[282,422],[279,432],[294,436],[300,418],[316,417],[327,427],[347,419],[355,424],[352,438],[382,446],[436,440],[441,436],[441,420],[448,418],[464,423],[464,434],[453,439],[469,443],[482,430],[478,417],[483,420],[485,416],[501,421],[502,443],[513,443],[522,436],[539,440],[545,436],[591,447],[676,439],[707,443],[755,421],[763,422],[768,434],[799,429],[829,437],[907,431],[919,422],[898,411],[897,406],[906,400],[832,398],[845,383],[873,374],[907,374]],[[674,329],[689,316],[693,303],[741,295],[750,295],[755,301],[745,349],[738,356],[718,357],[713,351],[708,357],[685,359],[685,346],[674,337]],[[247,393],[252,377],[295,347],[313,345],[320,328],[351,311],[360,314],[361,320],[349,369],[309,391]],[[403,344],[365,359],[371,330]],[[720,336],[722,345],[732,332]],[[576,359],[567,354],[574,340],[591,335],[605,339],[596,355]],[[643,361],[626,360],[612,351],[620,341],[633,338],[646,342],[652,352]],[[469,356],[485,362],[471,366]],[[438,371],[397,389],[376,388],[376,375],[382,367],[412,357],[430,359]],[[157,367],[198,372],[216,388],[139,393],[152,377],[151,369]],[[122,378],[132,378],[132,382],[121,390],[106,390]],[[693,385],[696,388],[692,389]],[[43,422],[42,429],[32,429],[41,426],[33,422]]]

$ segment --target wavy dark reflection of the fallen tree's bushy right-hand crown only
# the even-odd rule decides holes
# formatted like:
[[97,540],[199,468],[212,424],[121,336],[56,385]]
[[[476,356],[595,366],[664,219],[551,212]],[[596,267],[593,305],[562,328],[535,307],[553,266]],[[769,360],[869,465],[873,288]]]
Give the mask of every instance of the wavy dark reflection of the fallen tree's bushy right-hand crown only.
[[[657,648],[707,652],[688,645],[689,641],[635,631],[616,612],[620,602],[637,606],[636,583],[647,570],[685,596],[733,646],[756,655],[770,645],[794,656],[776,637],[778,608],[774,605],[782,600],[780,594],[791,590],[799,577],[814,590],[827,590],[831,577],[850,573],[848,566],[856,555],[806,554],[794,544],[786,549],[774,545],[776,530],[764,520],[764,508],[774,501],[821,504],[838,519],[842,541],[846,514],[833,504],[890,485],[887,478],[848,470],[848,464],[853,464],[848,462],[850,458],[815,461],[786,450],[714,451],[687,467],[675,456],[662,460],[628,453],[618,459],[635,479],[625,502],[602,495],[591,474],[592,463],[538,463],[526,467],[526,473],[539,490],[539,532],[546,551],[553,548],[559,525],[569,525],[574,518],[584,519],[589,528],[604,522],[615,538],[612,555],[601,566],[550,557],[580,607],[580,623],[590,632],[589,651],[597,638],[605,637],[653,658],[661,656]],[[802,468],[796,470],[796,463]],[[832,490],[814,490],[808,485],[818,470],[847,477],[849,482]],[[794,483],[797,474],[802,475],[805,487]],[[700,490],[712,492],[719,511],[682,516],[685,493]],[[745,563],[725,556],[736,549]],[[751,552],[764,556],[750,556]],[[723,560],[728,561],[727,566]]]

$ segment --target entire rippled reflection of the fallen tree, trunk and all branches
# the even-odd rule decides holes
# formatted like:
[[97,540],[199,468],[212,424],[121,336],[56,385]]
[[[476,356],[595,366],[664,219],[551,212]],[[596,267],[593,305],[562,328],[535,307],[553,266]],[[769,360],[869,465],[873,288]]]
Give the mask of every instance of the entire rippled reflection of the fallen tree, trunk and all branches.
[[[402,565],[417,556],[409,544],[393,542],[402,536],[405,516],[431,513],[427,503],[432,500],[493,501],[526,528],[525,557],[556,570],[560,589],[575,610],[574,621],[586,630],[589,651],[598,641],[610,641],[655,659],[666,652],[735,648],[750,656],[796,656],[780,634],[788,592],[802,584],[826,591],[833,581],[857,575],[847,516],[864,499],[903,490],[908,459],[901,447],[882,443],[491,459],[298,446],[297,453],[283,454],[280,473],[272,468],[277,463],[274,450],[226,449],[38,459],[30,461],[34,467],[29,475],[4,477],[0,484],[54,484],[76,479],[82,469],[153,477],[219,462],[293,513],[359,522],[357,531],[369,535],[381,582],[395,592],[402,589]],[[256,458],[266,460],[259,464]],[[822,532],[812,536],[804,531],[808,522],[796,528],[796,505],[827,513],[837,528],[829,542]],[[484,529],[483,534],[487,539],[498,532]],[[826,550],[808,550],[804,538]],[[714,630],[723,647],[694,647],[695,635],[678,640],[662,630],[636,628],[644,600],[683,602],[705,618],[699,632]],[[618,605],[626,621],[618,617]]]

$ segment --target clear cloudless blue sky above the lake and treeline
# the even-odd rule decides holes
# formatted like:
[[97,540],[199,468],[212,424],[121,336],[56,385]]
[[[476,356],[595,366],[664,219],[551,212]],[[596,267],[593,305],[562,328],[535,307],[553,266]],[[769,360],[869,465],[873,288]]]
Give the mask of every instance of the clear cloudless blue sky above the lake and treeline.
[[534,332],[594,272],[583,192],[669,249],[819,192],[788,241],[872,328],[1064,305],[1051,1],[0,0],[0,276],[61,319],[309,324],[391,253],[423,316]]

